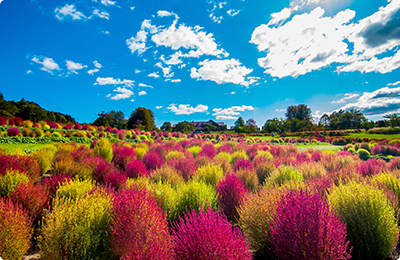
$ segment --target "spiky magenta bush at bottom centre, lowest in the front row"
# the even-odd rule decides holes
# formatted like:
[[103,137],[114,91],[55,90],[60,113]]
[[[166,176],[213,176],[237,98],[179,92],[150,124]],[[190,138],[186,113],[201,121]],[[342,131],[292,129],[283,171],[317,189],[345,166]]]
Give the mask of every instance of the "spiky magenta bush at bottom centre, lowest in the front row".
[[239,228],[212,209],[192,210],[175,223],[176,259],[252,259],[250,245]]

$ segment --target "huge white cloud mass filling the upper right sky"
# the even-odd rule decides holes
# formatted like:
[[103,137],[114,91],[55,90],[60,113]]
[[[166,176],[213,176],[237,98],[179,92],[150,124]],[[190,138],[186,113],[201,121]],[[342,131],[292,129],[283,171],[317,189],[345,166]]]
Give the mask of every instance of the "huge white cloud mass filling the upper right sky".
[[[389,1],[356,23],[351,22],[355,11],[347,9],[326,17],[321,7],[283,23],[292,12],[318,2],[295,1],[253,31],[251,42],[267,53],[258,59],[265,73],[279,78],[297,77],[332,64],[339,73],[388,73],[400,67],[400,0]],[[273,26],[277,23],[280,25]],[[378,56],[384,53],[384,58]]]

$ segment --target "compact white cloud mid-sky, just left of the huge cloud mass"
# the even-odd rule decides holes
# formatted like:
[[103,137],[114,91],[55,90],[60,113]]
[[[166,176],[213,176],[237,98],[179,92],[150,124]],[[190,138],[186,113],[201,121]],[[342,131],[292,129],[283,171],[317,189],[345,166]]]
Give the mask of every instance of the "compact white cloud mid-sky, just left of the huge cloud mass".
[[199,62],[199,69],[192,68],[190,77],[197,80],[211,80],[218,84],[234,83],[249,86],[257,81],[256,78],[248,79],[246,76],[253,70],[248,69],[235,59],[230,60],[204,60]]

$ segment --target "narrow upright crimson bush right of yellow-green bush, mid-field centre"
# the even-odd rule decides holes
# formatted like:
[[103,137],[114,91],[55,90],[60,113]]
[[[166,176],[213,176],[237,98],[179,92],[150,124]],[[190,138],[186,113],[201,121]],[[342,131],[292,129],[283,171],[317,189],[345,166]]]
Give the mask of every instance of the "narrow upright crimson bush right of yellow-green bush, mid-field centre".
[[217,193],[227,219],[236,222],[239,217],[237,208],[242,205],[246,195],[243,182],[236,175],[228,174],[218,183]]

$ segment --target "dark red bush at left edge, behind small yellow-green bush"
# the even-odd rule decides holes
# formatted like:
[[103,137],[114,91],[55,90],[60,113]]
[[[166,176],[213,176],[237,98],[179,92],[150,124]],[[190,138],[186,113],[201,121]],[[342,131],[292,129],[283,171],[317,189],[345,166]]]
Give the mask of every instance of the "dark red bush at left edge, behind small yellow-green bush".
[[42,168],[36,159],[28,155],[0,155],[0,166],[0,175],[5,175],[7,170],[18,170],[36,179],[42,173]]

